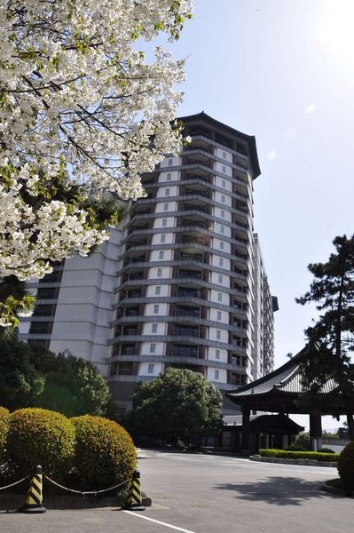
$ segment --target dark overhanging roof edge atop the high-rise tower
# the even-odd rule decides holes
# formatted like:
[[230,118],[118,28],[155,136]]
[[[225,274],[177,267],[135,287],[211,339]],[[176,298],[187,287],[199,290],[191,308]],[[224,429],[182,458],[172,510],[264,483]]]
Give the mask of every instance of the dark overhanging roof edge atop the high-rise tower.
[[254,135],[247,135],[247,133],[235,130],[231,126],[227,126],[226,124],[217,121],[212,116],[207,115],[204,111],[201,111],[201,113],[197,113],[196,115],[178,116],[177,120],[180,120],[183,123],[205,123],[215,130],[223,131],[226,135],[232,136],[233,139],[243,140],[248,145],[248,153],[252,163],[254,179],[261,174],[256,148],[256,137]]

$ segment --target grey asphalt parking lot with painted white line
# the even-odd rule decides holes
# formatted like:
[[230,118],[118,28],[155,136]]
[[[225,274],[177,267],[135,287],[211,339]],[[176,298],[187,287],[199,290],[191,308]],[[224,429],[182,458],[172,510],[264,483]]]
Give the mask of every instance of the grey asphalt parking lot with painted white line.
[[154,451],[141,457],[141,487],[153,500],[145,511],[1,512],[1,533],[352,533],[353,500],[321,491],[337,477],[334,468]]

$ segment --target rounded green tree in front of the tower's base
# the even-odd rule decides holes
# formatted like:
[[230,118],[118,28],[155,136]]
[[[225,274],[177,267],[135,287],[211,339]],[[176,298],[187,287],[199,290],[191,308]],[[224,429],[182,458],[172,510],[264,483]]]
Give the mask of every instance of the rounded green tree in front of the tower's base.
[[133,394],[131,421],[140,435],[190,443],[222,425],[222,396],[199,372],[169,368]]

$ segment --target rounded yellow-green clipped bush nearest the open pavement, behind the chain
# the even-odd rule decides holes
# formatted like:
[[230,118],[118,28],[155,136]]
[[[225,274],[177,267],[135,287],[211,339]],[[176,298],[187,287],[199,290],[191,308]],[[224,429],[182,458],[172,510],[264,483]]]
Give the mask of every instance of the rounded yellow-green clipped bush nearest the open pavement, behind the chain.
[[76,428],[75,467],[91,489],[130,480],[137,454],[130,434],[107,418],[71,418]]

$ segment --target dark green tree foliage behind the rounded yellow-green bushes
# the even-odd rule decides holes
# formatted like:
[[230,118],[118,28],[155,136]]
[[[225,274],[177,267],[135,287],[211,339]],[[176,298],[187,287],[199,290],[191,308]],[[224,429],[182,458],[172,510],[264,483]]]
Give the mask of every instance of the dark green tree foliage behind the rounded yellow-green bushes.
[[68,417],[102,415],[111,394],[90,362],[0,337],[0,405],[9,410],[40,407]]

